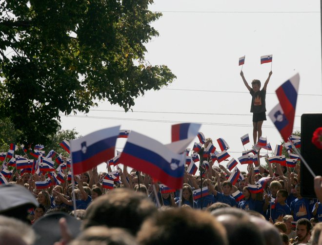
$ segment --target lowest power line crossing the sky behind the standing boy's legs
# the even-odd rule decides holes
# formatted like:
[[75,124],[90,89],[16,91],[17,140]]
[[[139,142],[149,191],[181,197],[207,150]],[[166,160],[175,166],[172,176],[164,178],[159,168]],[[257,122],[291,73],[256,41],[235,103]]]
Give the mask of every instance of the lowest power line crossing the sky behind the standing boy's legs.
[[[141,121],[141,122],[160,122],[160,123],[186,123],[186,121],[170,121],[170,120],[156,120],[156,119],[140,119],[140,118],[119,118],[119,117],[104,117],[104,116],[82,116],[82,115],[64,115],[64,117],[80,117],[80,118],[90,118],[90,119],[107,119],[107,120],[124,120],[124,121]],[[230,126],[230,127],[248,127],[252,128],[252,125],[248,124],[232,124],[232,123],[208,123],[208,122],[191,122],[199,123],[203,125],[217,125],[217,126]],[[262,128],[274,129],[275,126],[262,126]],[[300,127],[294,127],[294,129],[301,129]]]

